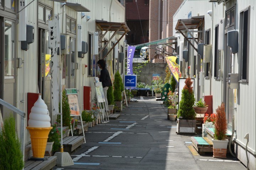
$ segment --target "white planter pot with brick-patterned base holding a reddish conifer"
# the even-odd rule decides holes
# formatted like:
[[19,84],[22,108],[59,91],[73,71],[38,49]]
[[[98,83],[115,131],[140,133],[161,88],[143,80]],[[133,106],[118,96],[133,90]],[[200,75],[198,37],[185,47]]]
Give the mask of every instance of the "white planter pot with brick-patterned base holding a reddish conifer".
[[213,157],[214,158],[226,158],[226,151],[228,147],[228,140],[214,140],[213,142]]

